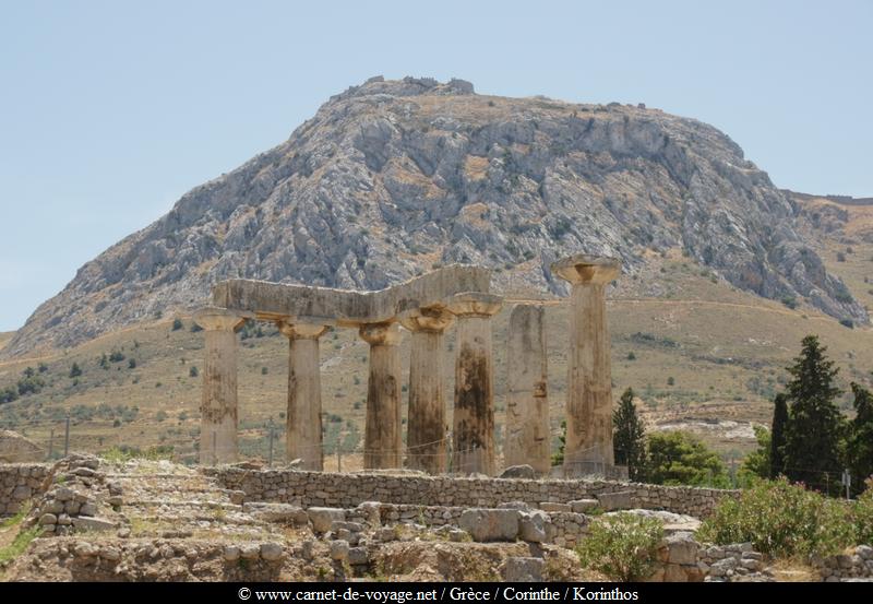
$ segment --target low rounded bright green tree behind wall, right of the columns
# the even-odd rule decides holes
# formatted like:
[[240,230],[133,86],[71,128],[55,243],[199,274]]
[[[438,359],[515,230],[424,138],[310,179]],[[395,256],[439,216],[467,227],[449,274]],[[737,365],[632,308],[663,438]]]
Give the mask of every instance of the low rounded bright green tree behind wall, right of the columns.
[[662,485],[729,485],[718,453],[680,430],[648,437],[647,474],[649,482]]

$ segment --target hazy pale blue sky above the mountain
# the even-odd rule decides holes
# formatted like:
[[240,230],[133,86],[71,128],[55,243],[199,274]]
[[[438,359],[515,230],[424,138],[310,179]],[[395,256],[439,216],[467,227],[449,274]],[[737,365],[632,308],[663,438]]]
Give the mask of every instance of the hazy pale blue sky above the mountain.
[[873,196],[873,1],[0,0],[0,330],[375,74],[646,103]]

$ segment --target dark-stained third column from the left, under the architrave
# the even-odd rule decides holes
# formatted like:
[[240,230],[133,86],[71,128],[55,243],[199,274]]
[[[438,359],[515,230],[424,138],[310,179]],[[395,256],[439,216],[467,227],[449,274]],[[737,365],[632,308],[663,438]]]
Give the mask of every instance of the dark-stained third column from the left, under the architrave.
[[363,467],[400,467],[399,328],[397,323],[364,323],[359,333],[370,344]]

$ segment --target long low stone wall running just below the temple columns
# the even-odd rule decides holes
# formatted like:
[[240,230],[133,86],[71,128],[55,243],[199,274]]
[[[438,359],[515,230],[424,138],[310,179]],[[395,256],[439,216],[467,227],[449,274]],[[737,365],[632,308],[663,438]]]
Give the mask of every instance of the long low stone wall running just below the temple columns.
[[237,467],[202,471],[215,476],[225,488],[244,492],[249,501],[277,501],[303,508],[354,508],[363,501],[486,508],[525,501],[538,506],[542,501],[567,504],[603,493],[630,492],[632,507],[705,518],[722,497],[733,497],[738,493],[587,479],[461,478]]

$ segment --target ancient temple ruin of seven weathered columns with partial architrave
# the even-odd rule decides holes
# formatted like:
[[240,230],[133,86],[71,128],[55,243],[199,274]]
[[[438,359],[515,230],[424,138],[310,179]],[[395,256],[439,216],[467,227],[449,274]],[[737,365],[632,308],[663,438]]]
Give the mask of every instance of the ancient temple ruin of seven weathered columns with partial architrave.
[[[578,254],[552,264],[571,283],[570,363],[563,474],[621,475],[613,465],[610,345],[606,286],[621,265]],[[228,280],[213,287],[213,306],[195,313],[205,335],[201,405],[202,464],[237,461],[237,337],[249,319],[273,321],[288,337],[287,458],[323,469],[319,339],[330,329],[357,329],[370,345],[364,467],[409,467],[430,474],[485,474],[497,466],[491,319],[514,304],[507,346],[504,465],[550,471],[545,309],[491,294],[490,271],[452,265],[378,292]],[[444,334],[455,337],[451,428],[443,396]],[[408,426],[399,342],[409,332]],[[451,436],[450,436],[451,435]],[[451,457],[450,457],[451,455]]]

